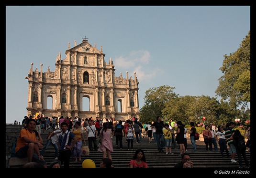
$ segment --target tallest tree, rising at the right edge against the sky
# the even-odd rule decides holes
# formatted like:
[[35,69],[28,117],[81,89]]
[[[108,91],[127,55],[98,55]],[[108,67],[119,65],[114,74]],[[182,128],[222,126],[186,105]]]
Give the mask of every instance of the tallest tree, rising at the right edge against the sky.
[[236,52],[224,55],[223,66],[220,68],[224,75],[219,78],[219,86],[215,91],[216,95],[222,97],[221,101],[229,99],[236,105],[250,102],[250,37],[249,31]]

